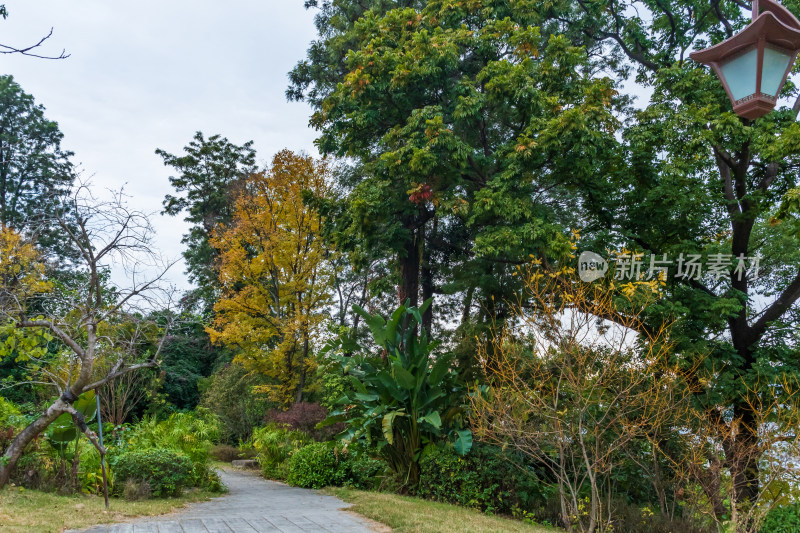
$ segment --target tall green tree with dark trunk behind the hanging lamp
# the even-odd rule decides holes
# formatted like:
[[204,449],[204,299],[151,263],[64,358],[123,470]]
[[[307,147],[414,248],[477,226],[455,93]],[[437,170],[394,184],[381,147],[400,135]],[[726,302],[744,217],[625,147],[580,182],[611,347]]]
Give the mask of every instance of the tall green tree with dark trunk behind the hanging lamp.
[[[800,13],[798,2],[785,4]],[[626,110],[614,165],[596,176],[613,194],[569,176],[565,185],[587,214],[585,245],[627,247],[645,263],[672,258],[664,301],[652,312],[678,317],[687,366],[702,355],[698,402],[716,426],[732,501],[746,508],[759,494],[762,453],[773,445],[760,436],[753,406],[780,388],[782,376],[797,376],[800,355],[796,85],[781,95],[791,107],[743,119],[716,76],[688,59],[744,27],[748,2],[578,0],[531,9],[584,45],[598,68],[618,79],[635,73],[631,93],[652,93]],[[699,276],[676,277],[681,254],[702,258]]]

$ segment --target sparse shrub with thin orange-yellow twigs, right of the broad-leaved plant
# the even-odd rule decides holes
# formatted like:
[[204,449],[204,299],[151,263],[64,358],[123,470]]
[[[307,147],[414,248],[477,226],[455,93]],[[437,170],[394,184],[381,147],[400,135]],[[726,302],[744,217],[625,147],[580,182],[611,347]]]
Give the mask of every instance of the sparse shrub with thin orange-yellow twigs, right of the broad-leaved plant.
[[549,470],[568,531],[605,531],[612,469],[686,408],[667,325],[636,333],[652,301],[646,284],[623,297],[538,271],[524,282],[533,310],[513,305],[515,320],[479,346],[490,393],[471,397],[473,431]]

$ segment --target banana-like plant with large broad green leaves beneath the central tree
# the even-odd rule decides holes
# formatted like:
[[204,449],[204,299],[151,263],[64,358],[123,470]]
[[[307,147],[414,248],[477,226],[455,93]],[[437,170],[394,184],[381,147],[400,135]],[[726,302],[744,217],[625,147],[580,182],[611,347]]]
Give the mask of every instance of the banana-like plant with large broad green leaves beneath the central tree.
[[419,482],[420,461],[434,447],[450,444],[464,455],[472,446],[465,391],[452,358],[436,352],[439,343],[422,327],[430,304],[416,308],[407,301],[388,320],[353,306],[369,326],[378,353],[336,357],[352,390],[326,421],[346,422],[343,439],[376,447],[410,488]]

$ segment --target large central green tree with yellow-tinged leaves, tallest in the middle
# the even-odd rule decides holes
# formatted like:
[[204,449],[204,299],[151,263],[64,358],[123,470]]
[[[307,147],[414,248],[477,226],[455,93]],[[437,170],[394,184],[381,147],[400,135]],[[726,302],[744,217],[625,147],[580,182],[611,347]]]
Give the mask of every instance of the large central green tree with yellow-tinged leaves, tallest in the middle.
[[458,294],[467,320],[473,298],[502,319],[513,265],[569,249],[572,196],[552,187],[607,172],[609,80],[525,3],[309,4],[320,39],[287,94],[314,107],[323,153],[358,161],[342,242],[394,256],[401,302]]

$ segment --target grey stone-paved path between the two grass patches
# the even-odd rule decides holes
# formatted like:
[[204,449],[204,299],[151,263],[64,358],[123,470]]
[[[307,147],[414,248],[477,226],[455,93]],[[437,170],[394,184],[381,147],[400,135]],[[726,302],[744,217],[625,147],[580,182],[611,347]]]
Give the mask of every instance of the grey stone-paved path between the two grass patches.
[[[131,523],[94,526],[85,533],[329,533],[374,532],[349,504],[308,489],[266,481],[255,473],[220,472],[228,494],[186,510]],[[381,528],[382,529],[382,528]],[[387,529],[383,529],[386,531]],[[68,532],[69,533],[69,532]],[[73,532],[77,533],[77,532]]]

